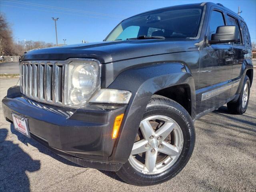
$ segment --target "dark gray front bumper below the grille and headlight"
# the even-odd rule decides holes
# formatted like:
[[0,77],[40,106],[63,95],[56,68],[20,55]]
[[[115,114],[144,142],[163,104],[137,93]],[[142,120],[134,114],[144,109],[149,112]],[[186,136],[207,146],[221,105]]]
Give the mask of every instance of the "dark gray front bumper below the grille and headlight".
[[115,144],[112,128],[116,116],[125,113],[124,105],[88,104],[86,109],[70,109],[30,100],[20,87],[8,90],[2,100],[4,116],[12,122],[12,113],[28,119],[30,135],[60,156],[82,166],[118,170],[111,162]]

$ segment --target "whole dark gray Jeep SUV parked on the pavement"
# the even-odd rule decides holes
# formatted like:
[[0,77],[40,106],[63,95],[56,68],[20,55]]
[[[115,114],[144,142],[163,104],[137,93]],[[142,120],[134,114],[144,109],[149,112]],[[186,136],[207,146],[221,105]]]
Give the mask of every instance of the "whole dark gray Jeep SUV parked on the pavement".
[[246,23],[221,4],[161,8],[103,42],[26,52],[4,115],[76,164],[159,184],[190,159],[196,119],[226,103],[246,111],[251,58]]

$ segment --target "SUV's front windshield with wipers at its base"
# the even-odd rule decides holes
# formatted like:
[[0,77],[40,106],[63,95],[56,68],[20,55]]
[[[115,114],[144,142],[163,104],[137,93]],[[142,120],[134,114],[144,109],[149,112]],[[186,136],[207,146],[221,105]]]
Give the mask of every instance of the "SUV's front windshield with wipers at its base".
[[139,36],[164,38],[195,38],[203,7],[172,8],[140,14],[122,21],[106,41],[127,40]]

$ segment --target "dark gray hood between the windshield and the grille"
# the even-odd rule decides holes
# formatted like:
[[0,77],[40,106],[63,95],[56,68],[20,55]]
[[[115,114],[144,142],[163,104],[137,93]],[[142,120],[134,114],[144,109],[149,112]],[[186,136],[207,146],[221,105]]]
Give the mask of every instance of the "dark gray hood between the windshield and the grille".
[[94,58],[102,64],[145,56],[198,50],[198,40],[146,39],[75,44],[32,50],[22,60]]

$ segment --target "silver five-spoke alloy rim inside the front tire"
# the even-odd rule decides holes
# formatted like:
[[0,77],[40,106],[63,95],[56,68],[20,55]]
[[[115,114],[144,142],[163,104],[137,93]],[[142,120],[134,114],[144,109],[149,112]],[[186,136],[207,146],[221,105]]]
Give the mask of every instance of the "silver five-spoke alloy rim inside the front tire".
[[172,118],[150,116],[140,122],[129,162],[144,174],[163,172],[180,156],[182,144],[182,130]]

